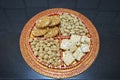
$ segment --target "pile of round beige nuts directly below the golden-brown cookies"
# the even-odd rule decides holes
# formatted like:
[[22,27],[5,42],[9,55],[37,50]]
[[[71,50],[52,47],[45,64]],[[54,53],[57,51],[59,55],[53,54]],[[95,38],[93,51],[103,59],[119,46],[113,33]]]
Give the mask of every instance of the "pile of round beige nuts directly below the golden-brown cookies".
[[47,63],[47,66],[59,66],[61,63],[59,53],[59,41],[53,38],[46,40],[38,38],[29,39],[32,51],[40,62]]

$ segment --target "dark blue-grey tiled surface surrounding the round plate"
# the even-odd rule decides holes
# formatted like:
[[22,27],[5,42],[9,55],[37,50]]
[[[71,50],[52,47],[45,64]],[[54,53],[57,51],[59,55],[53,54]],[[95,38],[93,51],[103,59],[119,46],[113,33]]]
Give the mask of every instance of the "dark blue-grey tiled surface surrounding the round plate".
[[[120,0],[0,0],[0,79],[48,79],[32,70],[19,49],[25,23],[49,8],[70,8],[88,17],[100,37],[96,61],[72,79],[120,79]],[[49,78],[50,79],[50,78]]]

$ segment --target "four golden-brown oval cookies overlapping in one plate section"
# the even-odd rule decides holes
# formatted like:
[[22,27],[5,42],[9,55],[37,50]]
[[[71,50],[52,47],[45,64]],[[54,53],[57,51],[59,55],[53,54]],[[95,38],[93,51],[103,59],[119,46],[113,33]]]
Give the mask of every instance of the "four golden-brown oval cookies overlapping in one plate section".
[[60,17],[58,15],[44,16],[36,21],[32,35],[35,37],[44,36],[46,38],[55,37],[59,33],[59,23]]

